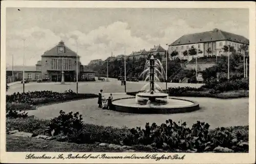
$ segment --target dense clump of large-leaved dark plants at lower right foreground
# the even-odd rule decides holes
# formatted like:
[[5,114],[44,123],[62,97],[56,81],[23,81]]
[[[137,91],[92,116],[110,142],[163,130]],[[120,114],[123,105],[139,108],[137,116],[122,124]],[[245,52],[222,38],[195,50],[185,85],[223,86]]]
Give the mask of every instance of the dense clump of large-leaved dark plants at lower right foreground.
[[151,145],[160,149],[194,150],[195,152],[213,151],[216,147],[225,147],[233,151],[248,150],[241,133],[234,134],[231,129],[217,128],[209,133],[209,124],[198,121],[191,128],[186,122],[177,124],[166,120],[161,126],[146,123],[145,129],[132,128],[123,140],[125,145]]

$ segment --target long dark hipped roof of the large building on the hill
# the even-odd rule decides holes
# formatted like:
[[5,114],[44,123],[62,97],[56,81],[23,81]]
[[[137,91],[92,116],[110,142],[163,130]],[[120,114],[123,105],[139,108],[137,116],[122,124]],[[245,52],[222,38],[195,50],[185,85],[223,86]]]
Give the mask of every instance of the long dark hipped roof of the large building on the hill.
[[175,42],[170,44],[169,46],[211,42],[211,41],[221,41],[221,40],[229,40],[229,41],[238,42],[242,44],[249,44],[249,40],[241,35],[228,33],[219,29],[214,29],[212,31],[203,32],[203,33],[183,35],[182,37],[177,39]]

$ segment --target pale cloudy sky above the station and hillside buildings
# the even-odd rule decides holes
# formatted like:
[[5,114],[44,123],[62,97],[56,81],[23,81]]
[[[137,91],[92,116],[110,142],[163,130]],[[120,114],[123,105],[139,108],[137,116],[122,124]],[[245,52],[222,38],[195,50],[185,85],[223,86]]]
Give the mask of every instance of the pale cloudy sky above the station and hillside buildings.
[[[220,29],[249,38],[248,9],[189,8],[7,8],[6,64],[34,66],[60,40],[81,63],[154,45],[182,35]],[[23,39],[25,45],[23,45]],[[25,48],[24,48],[25,47]]]

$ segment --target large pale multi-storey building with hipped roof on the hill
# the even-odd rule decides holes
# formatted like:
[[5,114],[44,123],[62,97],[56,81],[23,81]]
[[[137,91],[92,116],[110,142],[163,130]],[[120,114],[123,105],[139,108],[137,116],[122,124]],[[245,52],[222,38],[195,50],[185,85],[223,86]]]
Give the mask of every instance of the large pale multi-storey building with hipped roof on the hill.
[[[221,56],[223,46],[230,45],[238,50],[241,45],[249,45],[249,40],[241,35],[228,33],[219,29],[208,32],[183,35],[175,42],[169,45],[168,52],[178,52],[178,58],[185,59],[183,52],[194,46],[198,53],[197,57]],[[195,56],[195,57],[196,57]],[[192,57],[188,57],[190,61]]]

